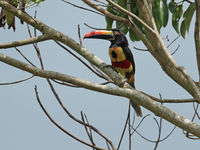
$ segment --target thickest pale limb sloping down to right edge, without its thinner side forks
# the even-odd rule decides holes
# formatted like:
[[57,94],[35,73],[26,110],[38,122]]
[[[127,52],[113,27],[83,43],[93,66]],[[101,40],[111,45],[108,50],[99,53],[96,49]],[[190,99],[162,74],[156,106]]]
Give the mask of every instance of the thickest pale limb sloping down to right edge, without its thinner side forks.
[[[155,22],[152,20],[152,12],[148,9],[148,4],[146,0],[137,0],[137,6],[141,13],[144,21],[150,26],[154,26]],[[153,21],[153,22],[152,22]],[[151,54],[158,61],[162,69],[180,86],[187,90],[195,99],[200,100],[200,89],[192,78],[186,73],[183,67],[179,66],[176,61],[172,58],[167,47],[164,44],[164,41],[160,37],[159,33],[152,34],[152,32],[146,31],[146,35],[152,43],[153,49],[149,49]],[[155,42],[156,41],[156,42]],[[147,46],[147,45],[146,45]],[[200,101],[199,101],[200,102]]]

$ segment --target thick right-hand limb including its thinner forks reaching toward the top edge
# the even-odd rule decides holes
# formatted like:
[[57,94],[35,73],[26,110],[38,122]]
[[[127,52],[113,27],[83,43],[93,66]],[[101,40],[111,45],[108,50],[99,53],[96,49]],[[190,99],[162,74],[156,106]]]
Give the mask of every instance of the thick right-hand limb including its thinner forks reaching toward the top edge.
[[[149,5],[146,0],[137,0],[137,5],[140,8],[139,10],[142,12],[143,20],[147,24],[144,27],[148,27],[147,29],[147,35],[148,38],[144,37],[141,33],[141,31],[138,31],[139,29],[137,26],[133,23],[130,23],[129,20],[115,16],[103,8],[96,6],[93,2],[90,0],[82,0],[87,5],[93,7],[94,9],[98,10],[99,12],[103,13],[105,16],[110,17],[111,19],[123,22],[124,24],[128,25],[131,29],[133,29],[138,37],[142,39],[148,50],[151,52],[151,54],[155,57],[155,59],[158,61],[162,69],[180,86],[182,86],[186,91],[188,91],[195,99],[200,103],[200,89],[196,85],[196,83],[192,80],[192,78],[186,73],[183,67],[179,66],[176,61],[172,58],[171,54],[169,53],[167,47],[165,46],[162,38],[160,37],[155,21],[153,19],[152,13],[149,9]],[[107,0],[111,2],[110,0]],[[127,15],[131,17],[135,17],[131,13],[128,13],[126,10],[121,8],[119,5],[117,5],[114,2],[111,2],[113,6],[115,6],[120,11],[126,13]],[[139,20],[138,20],[139,21]],[[144,24],[144,22],[143,22]],[[151,30],[152,27],[153,31]],[[157,41],[157,42],[155,42]]]

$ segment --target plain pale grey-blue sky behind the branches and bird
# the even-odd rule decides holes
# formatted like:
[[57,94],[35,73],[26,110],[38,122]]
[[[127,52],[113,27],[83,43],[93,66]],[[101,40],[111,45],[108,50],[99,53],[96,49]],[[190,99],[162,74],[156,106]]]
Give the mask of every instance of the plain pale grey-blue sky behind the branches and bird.
[[[85,6],[80,1],[72,2]],[[39,7],[28,8],[27,12],[34,15],[35,10],[37,10],[37,18],[40,21],[67,34],[77,42],[79,41],[78,24],[80,25],[82,36],[91,31],[84,23],[97,28],[105,28],[106,26],[104,17],[72,7],[60,0],[46,0],[46,2]],[[169,23],[171,24],[171,21]],[[38,32],[38,35],[39,34],[40,33]],[[15,32],[7,30],[6,27],[5,30],[2,28],[0,29],[0,35],[0,43],[22,40],[29,37],[26,24],[19,24],[18,19],[16,19]],[[168,35],[170,41],[168,42],[165,40],[166,45],[177,37],[177,34],[172,28],[164,29],[161,35],[163,38]],[[190,98],[190,95],[185,90],[178,86],[162,71],[161,67],[150,53],[137,51],[133,48],[133,46],[145,48],[141,42],[133,43],[129,40],[129,43],[136,62],[137,89],[156,97],[159,97],[160,93],[163,98]],[[109,44],[109,42],[101,40],[83,41],[84,47],[108,64],[110,64],[108,56]],[[179,44],[180,48],[175,55],[173,55],[174,59],[178,64],[185,67],[186,71],[194,80],[198,80],[193,42],[193,24],[190,28],[190,34],[186,35],[186,39],[183,40],[180,37],[169,48],[170,52],[173,52]],[[87,79],[92,82],[103,82],[69,53],[57,46],[53,41],[42,42],[38,45],[46,69]],[[19,47],[19,49],[35,65],[39,66],[36,52],[32,46]],[[15,49],[1,50],[1,53],[25,62]],[[3,63],[0,63],[0,70],[1,83],[16,81],[30,76],[30,74],[26,72]],[[24,83],[0,86],[0,149],[89,149],[85,145],[74,141],[71,137],[64,134],[48,120],[36,101],[34,93],[35,85],[38,87],[41,101],[52,117],[68,131],[89,141],[84,128],[69,119],[58,105],[46,80],[35,77]],[[89,122],[98,128],[104,135],[109,137],[117,146],[127,116],[128,99],[91,92],[81,88],[76,89],[56,84],[54,85],[63,103],[71,113],[80,118],[80,112],[83,111],[87,115]],[[192,104],[165,105],[189,119],[191,119],[193,115]],[[142,111],[144,115],[150,114],[150,116],[145,119],[138,131],[146,138],[156,140],[158,128],[153,118],[157,117],[144,108],[142,108]],[[140,120],[141,118],[136,118],[135,126]],[[163,121],[161,137],[165,137],[173,127],[172,124]],[[96,137],[96,143],[97,146],[106,148],[105,142],[98,137]],[[132,143],[134,150],[153,149],[155,146],[155,144],[145,141],[137,134],[133,136]],[[127,144],[127,138],[125,138],[121,148],[128,149]],[[182,134],[182,130],[177,128],[167,140],[159,144],[158,150],[195,150],[198,148],[199,141],[185,138]]]

